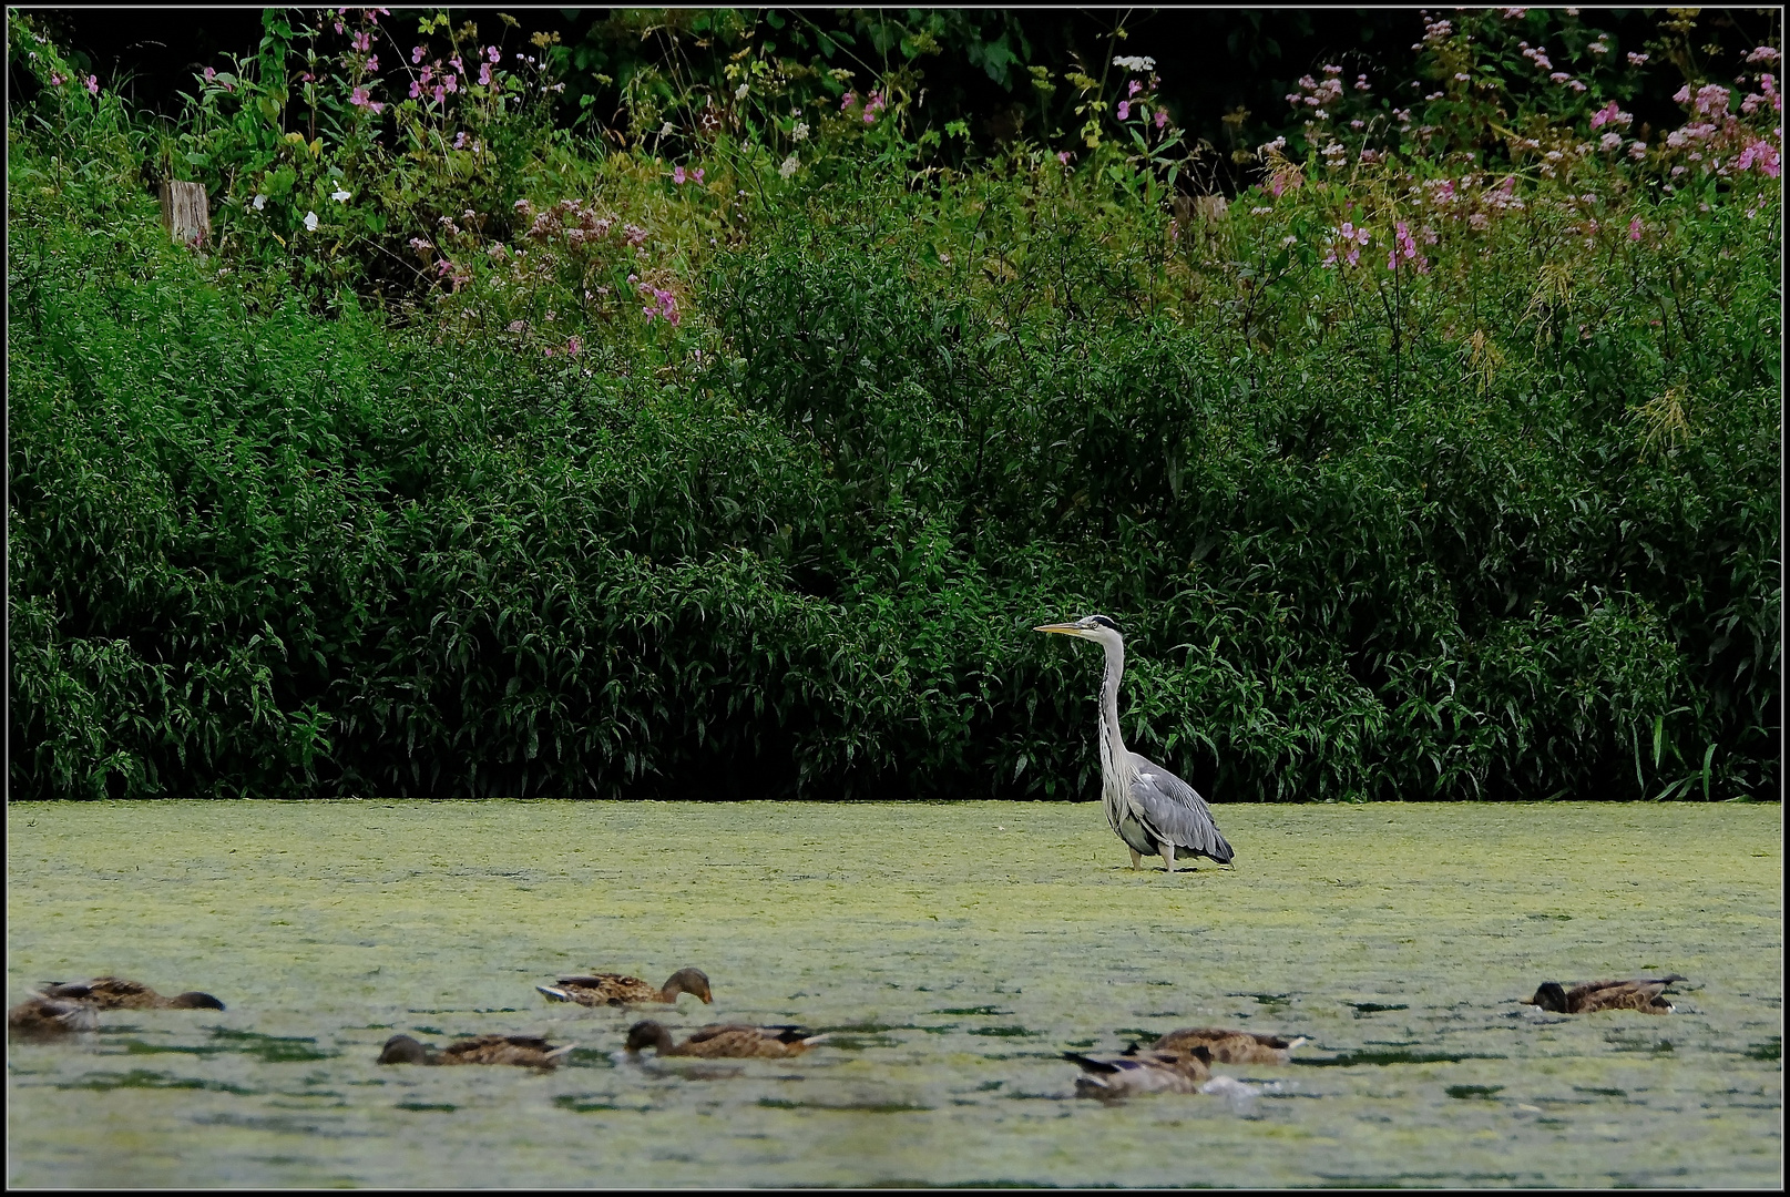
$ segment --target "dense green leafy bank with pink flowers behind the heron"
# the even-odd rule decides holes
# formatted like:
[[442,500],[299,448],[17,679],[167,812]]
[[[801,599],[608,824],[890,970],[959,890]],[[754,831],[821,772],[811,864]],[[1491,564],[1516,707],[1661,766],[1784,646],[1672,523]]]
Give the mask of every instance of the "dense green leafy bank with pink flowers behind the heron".
[[47,93],[13,793],[1085,796],[1097,664],[1029,628],[1088,610],[1217,800],[1776,791],[1776,174],[1314,127],[1226,209],[1162,143],[927,166],[899,109],[700,181],[492,115],[524,193],[394,295],[390,227],[163,243],[166,141]]

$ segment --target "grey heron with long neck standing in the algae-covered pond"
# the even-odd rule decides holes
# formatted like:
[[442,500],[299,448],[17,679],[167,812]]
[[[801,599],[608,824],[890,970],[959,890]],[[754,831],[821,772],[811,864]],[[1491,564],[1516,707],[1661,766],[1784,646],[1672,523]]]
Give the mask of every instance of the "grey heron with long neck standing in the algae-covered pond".
[[1146,855],[1160,855],[1172,873],[1176,848],[1230,864],[1232,846],[1212,821],[1212,809],[1199,791],[1155,760],[1126,751],[1119,735],[1119,678],[1124,675],[1124,635],[1119,624],[1106,615],[1088,615],[1033,630],[1081,637],[1106,649],[1099,701],[1101,803],[1106,807],[1106,823],[1131,850],[1131,868],[1140,868]]

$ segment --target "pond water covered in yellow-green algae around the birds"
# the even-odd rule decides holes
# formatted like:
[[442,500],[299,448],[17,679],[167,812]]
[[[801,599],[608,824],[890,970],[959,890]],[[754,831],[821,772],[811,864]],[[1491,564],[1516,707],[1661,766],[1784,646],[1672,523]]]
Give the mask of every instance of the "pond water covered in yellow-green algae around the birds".
[[[1776,1186],[1776,805],[1219,807],[1233,870],[1133,873],[1097,803],[13,805],[7,1000],[118,973],[7,1050],[13,1184]],[[677,1027],[793,1061],[618,1063],[591,968],[695,964]],[[1548,979],[1690,977],[1543,1016]],[[1067,1048],[1307,1034],[1257,1097],[1076,1100]],[[553,1074],[378,1066],[544,1032]]]

